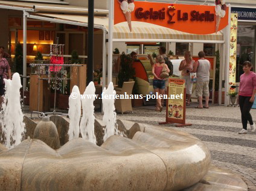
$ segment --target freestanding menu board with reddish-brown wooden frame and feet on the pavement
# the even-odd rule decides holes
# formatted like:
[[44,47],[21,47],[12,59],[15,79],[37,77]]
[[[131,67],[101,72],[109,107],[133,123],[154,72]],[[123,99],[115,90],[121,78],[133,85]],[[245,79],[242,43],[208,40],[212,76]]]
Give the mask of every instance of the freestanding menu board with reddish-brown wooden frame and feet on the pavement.
[[176,127],[191,126],[186,124],[186,89],[185,80],[169,78],[168,79],[168,99],[166,103],[166,120],[159,122],[163,124],[176,124]]

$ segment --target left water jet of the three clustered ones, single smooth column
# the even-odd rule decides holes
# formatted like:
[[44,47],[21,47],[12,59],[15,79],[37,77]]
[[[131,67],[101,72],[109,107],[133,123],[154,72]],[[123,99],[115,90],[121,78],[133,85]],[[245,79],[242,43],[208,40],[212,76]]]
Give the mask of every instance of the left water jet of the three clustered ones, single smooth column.
[[79,122],[81,116],[81,98],[80,91],[77,86],[74,86],[72,93],[69,96],[68,116],[70,119],[68,137],[69,140],[79,137]]

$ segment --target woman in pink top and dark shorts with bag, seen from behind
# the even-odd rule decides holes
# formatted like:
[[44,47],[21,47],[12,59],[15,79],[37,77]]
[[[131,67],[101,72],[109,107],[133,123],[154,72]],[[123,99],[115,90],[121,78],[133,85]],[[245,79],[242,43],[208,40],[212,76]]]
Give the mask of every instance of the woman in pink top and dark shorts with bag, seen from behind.
[[159,95],[163,95],[165,89],[165,78],[169,76],[170,70],[168,69],[167,64],[165,64],[164,57],[158,55],[156,57],[156,63],[152,66],[152,74],[154,75],[153,79],[153,89],[155,90],[156,95],[156,111],[162,111],[161,98]]

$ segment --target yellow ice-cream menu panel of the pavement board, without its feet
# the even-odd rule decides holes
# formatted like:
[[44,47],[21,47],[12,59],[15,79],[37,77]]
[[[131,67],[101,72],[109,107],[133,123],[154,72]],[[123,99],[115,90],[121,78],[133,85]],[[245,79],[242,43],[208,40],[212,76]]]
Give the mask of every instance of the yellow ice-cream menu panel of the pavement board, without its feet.
[[[168,119],[185,119],[184,111],[185,80],[169,78],[168,84]],[[176,121],[176,120],[175,120]],[[176,121],[177,122],[177,121]]]

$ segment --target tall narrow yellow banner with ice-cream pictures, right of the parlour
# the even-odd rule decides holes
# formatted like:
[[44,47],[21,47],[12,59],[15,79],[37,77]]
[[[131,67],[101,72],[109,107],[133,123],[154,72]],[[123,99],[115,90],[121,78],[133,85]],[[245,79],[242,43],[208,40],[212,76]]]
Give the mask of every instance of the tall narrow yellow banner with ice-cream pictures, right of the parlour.
[[[231,13],[229,49],[229,85],[235,85],[235,66],[237,59],[237,13]],[[231,90],[232,91],[232,90]]]

